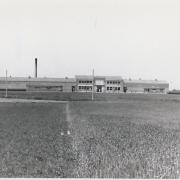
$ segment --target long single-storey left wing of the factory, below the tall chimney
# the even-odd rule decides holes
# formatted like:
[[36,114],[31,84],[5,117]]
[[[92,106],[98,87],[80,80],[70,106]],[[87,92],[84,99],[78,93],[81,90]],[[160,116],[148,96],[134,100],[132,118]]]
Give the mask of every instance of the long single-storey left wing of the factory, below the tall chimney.
[[59,91],[74,92],[76,81],[74,78],[0,78],[0,91]]

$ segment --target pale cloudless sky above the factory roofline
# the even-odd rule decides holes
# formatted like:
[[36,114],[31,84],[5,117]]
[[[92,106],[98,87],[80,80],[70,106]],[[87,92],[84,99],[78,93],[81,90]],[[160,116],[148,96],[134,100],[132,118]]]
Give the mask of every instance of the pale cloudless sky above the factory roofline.
[[180,89],[179,0],[0,0],[0,76],[114,75]]

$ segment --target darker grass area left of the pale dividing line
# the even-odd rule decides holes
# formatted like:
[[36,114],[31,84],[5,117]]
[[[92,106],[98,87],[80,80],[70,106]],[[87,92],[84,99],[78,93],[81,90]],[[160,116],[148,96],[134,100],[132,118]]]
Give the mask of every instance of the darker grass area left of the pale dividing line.
[[0,114],[0,177],[73,175],[66,104],[0,103]]

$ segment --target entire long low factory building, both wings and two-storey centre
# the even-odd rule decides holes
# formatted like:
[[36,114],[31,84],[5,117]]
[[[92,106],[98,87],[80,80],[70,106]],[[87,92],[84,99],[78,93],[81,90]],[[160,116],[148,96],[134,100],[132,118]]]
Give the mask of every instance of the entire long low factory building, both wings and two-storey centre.
[[75,78],[1,77],[0,91],[57,91],[95,93],[167,93],[169,83],[160,80],[131,80],[120,76],[85,76]]

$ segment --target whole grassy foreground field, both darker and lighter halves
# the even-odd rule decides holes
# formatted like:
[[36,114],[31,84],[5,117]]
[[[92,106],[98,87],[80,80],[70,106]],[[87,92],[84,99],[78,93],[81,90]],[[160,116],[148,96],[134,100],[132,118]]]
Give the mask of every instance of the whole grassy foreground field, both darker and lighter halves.
[[179,178],[179,96],[155,97],[0,103],[0,177]]

